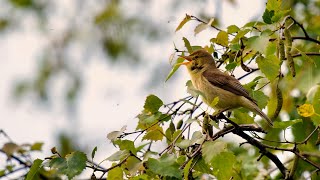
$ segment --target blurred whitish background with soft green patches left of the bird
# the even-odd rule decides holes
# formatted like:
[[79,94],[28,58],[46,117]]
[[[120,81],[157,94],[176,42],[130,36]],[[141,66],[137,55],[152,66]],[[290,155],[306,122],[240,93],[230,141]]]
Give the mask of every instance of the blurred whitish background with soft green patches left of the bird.
[[[186,13],[241,27],[261,20],[265,2],[1,0],[0,129],[17,144],[44,142],[44,156],[53,146],[62,153],[98,146],[105,158],[107,133],[134,130],[147,95],[165,103],[187,95],[184,70],[165,82],[174,45],[184,50],[187,37],[204,46],[217,32],[194,36],[199,23],[189,22],[175,33]],[[304,12],[311,2],[286,3]]]

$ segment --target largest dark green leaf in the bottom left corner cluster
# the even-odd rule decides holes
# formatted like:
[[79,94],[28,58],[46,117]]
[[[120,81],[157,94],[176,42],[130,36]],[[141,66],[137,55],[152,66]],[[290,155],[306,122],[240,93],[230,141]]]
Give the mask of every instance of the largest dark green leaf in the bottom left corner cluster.
[[50,161],[50,167],[57,170],[59,174],[64,174],[72,179],[79,175],[86,167],[87,157],[83,152],[75,151],[65,158],[54,158]]

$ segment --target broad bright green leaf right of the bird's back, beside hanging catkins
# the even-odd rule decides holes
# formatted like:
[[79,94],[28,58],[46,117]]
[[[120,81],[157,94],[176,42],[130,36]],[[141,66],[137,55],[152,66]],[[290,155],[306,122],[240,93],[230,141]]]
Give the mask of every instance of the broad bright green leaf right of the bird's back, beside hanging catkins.
[[270,55],[267,58],[258,56],[256,62],[261,72],[273,82],[279,74],[280,60],[275,55]]

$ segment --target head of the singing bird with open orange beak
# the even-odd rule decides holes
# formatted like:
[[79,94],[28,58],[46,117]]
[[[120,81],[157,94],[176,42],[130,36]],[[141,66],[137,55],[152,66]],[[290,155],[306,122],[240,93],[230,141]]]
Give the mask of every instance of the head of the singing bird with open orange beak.
[[186,62],[181,63],[181,65],[186,65],[188,70],[191,70],[192,72],[198,72],[209,66],[216,67],[213,57],[204,49],[197,50],[189,56],[180,57],[187,60]]

